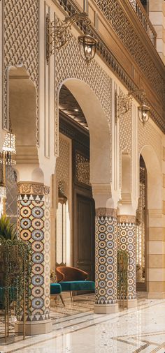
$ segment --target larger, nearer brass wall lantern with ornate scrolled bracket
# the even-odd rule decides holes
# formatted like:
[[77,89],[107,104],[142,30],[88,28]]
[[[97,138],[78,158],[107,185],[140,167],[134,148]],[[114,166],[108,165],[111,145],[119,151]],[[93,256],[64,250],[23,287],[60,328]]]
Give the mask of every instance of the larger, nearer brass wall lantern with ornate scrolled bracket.
[[[46,16],[46,61],[49,63],[49,59],[54,54],[55,49],[60,49],[71,39],[72,24],[78,21],[83,21],[86,27],[91,24],[87,13],[74,13],[73,15],[66,17],[61,23],[58,19],[50,22],[49,15]],[[89,34],[78,37],[78,43],[80,48],[80,54],[86,63],[89,63],[94,59],[96,54],[97,41]]]

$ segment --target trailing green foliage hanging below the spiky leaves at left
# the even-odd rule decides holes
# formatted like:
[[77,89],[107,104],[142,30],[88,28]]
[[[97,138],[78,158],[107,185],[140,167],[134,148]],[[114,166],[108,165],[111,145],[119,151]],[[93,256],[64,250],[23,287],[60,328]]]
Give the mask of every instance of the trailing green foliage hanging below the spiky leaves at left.
[[[31,297],[31,244],[21,239],[0,240],[0,287],[9,296],[9,303],[15,296],[15,315],[22,320],[22,301],[26,303],[27,314]],[[5,298],[5,300],[4,300]],[[7,308],[6,296],[0,296],[0,306]],[[7,309],[6,309],[7,310]],[[10,310],[10,308],[9,308]]]

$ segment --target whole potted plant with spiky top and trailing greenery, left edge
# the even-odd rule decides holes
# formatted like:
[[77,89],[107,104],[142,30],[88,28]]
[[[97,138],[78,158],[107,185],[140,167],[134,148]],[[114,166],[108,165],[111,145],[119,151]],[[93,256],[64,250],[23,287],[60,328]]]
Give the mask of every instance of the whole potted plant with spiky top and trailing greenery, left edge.
[[20,314],[24,295],[28,306],[31,277],[31,246],[17,236],[15,225],[7,216],[0,218],[0,308],[15,300],[16,314]]

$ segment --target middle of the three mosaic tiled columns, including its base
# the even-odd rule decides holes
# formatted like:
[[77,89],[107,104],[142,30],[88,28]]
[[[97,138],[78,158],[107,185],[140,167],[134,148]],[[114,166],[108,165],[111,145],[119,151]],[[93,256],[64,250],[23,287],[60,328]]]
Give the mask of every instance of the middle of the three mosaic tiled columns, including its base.
[[117,219],[115,209],[96,209],[96,302],[94,313],[116,313]]

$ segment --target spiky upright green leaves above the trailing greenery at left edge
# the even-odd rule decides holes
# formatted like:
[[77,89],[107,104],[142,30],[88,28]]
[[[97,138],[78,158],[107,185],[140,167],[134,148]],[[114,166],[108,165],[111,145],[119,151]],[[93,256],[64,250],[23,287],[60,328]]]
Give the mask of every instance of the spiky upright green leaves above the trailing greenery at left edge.
[[10,224],[10,219],[6,216],[0,218],[0,242],[2,240],[16,240],[17,230],[15,225]]

